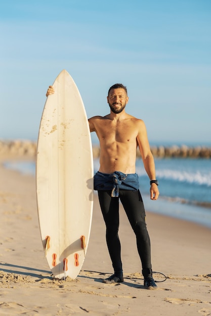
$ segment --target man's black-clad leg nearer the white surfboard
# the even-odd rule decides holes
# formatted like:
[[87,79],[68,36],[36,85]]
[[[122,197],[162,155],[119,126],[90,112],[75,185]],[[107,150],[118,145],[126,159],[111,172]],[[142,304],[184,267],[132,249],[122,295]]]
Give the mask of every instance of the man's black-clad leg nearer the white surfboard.
[[111,257],[114,274],[116,276],[122,277],[122,263],[120,254],[121,246],[118,237],[119,199],[117,197],[111,197],[110,194],[110,191],[98,191],[100,207],[106,224],[106,242]]

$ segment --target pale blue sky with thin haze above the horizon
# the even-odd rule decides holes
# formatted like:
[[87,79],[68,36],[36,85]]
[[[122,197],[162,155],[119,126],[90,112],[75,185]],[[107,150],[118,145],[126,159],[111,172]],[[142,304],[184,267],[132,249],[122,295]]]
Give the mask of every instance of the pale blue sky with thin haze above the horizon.
[[120,82],[150,143],[211,144],[211,1],[8,0],[0,27],[0,139],[37,138],[66,69],[88,117],[109,113]]

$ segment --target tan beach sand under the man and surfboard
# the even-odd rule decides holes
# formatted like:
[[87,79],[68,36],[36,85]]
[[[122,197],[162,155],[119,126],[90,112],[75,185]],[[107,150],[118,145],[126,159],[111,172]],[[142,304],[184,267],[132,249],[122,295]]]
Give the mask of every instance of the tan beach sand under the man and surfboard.
[[157,290],[146,290],[135,236],[121,208],[124,282],[104,284],[113,270],[95,194],[82,270],[76,280],[55,280],[41,244],[35,178],[2,166],[0,175],[0,315],[211,315],[211,230],[146,212],[153,271],[167,277]]

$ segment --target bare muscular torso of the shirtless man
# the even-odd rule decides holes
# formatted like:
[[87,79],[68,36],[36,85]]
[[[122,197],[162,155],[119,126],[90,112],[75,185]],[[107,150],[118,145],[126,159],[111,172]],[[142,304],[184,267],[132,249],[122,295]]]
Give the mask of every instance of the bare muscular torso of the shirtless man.
[[91,131],[97,133],[100,141],[99,171],[135,173],[138,123],[141,120],[125,114],[120,120],[107,115],[93,117],[89,121]]

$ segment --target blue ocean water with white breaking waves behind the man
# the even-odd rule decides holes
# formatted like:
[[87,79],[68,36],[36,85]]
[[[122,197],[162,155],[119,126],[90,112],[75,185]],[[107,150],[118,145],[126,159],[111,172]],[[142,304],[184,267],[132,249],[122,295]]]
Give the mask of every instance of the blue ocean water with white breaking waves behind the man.
[[[195,222],[211,228],[211,160],[155,159],[160,196],[150,200],[149,178],[141,159],[137,159],[140,191],[146,210]],[[5,163],[5,167],[35,176],[34,162]],[[94,170],[99,160],[94,160]]]

